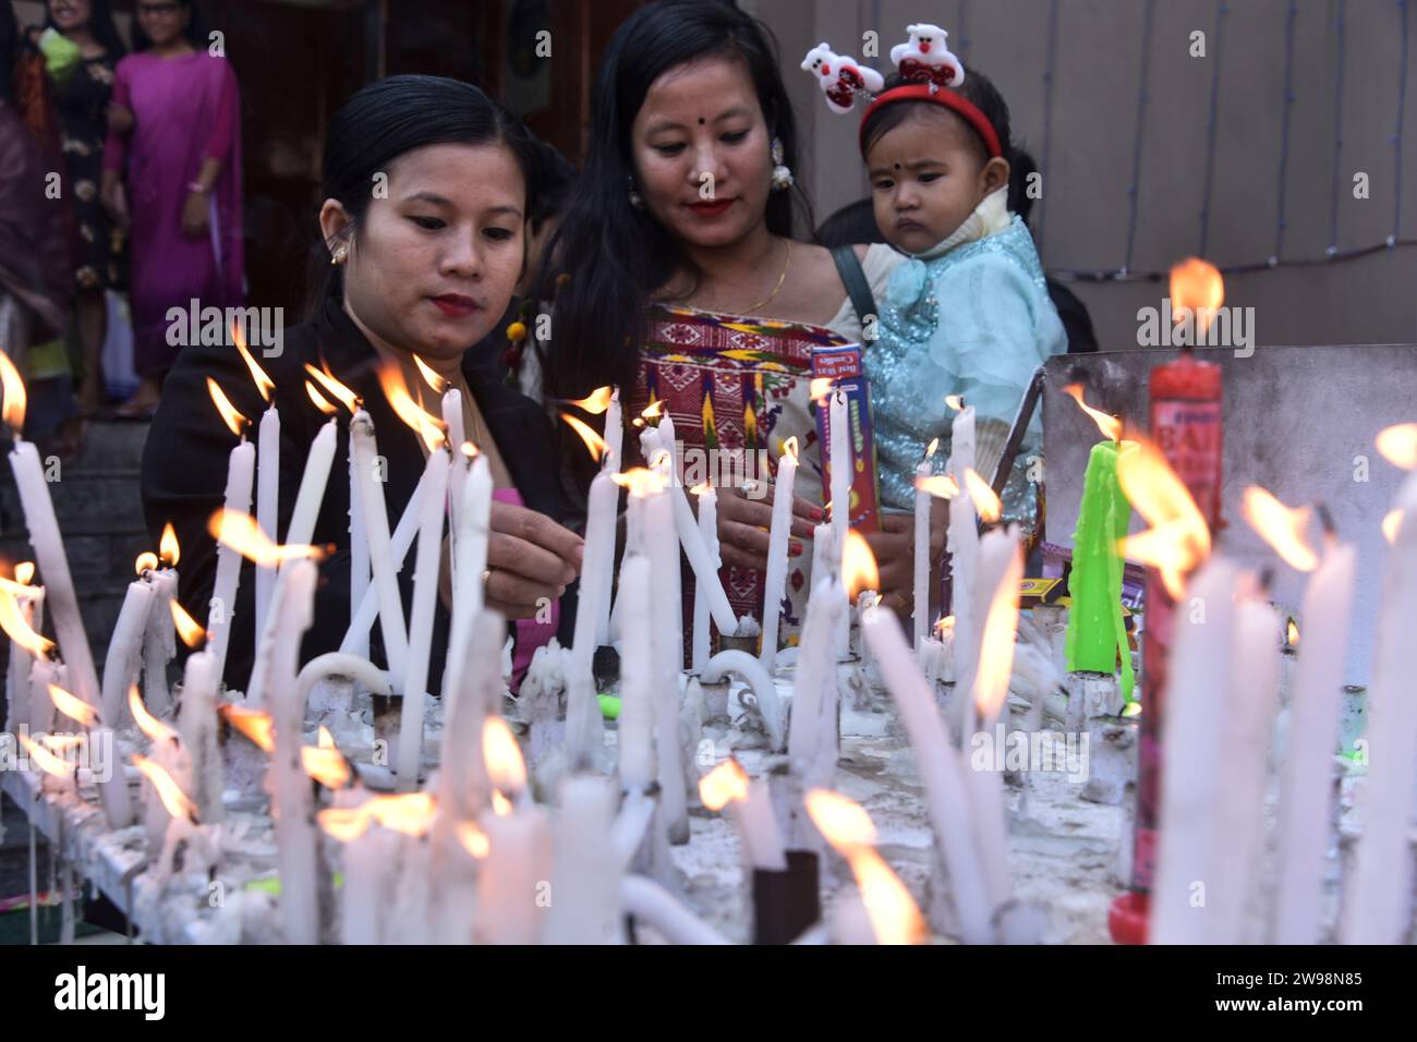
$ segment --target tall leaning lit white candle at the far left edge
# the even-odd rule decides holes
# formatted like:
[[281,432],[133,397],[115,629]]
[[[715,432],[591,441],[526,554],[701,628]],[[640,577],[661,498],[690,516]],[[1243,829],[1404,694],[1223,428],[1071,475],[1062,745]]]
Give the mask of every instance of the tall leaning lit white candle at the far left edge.
[[[58,637],[60,652],[64,655],[67,666],[65,683],[69,685],[67,690],[84,699],[95,710],[102,712],[98,673],[94,669],[94,654],[89,651],[88,635],[84,632],[84,618],[79,615],[79,603],[74,594],[74,580],[69,576],[69,559],[64,553],[60,522],[54,516],[54,502],[50,499],[50,488],[44,481],[44,468],[40,464],[38,449],[16,437],[14,448],[10,449],[10,469],[14,472],[16,489],[20,492],[20,505],[24,509],[26,527],[30,530],[30,543],[34,546],[40,577],[44,580],[45,601],[48,601],[50,614],[54,618],[54,631]],[[33,724],[34,713],[31,702]],[[101,727],[91,729],[89,739],[102,740],[102,730]],[[125,828],[132,824],[133,804],[128,794],[128,781],[120,768],[113,770],[112,778],[99,783],[99,795],[103,801],[103,817],[109,828]]]

